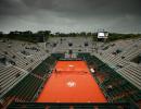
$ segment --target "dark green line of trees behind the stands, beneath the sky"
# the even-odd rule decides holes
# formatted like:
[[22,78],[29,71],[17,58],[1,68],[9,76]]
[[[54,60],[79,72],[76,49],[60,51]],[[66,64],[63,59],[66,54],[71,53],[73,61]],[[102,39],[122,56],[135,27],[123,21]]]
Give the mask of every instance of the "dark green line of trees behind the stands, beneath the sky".
[[[98,41],[98,35],[97,33],[55,33],[51,34],[51,31],[39,31],[37,33],[33,33],[30,31],[26,32],[10,32],[9,34],[3,34],[0,32],[0,38],[10,38],[10,39],[16,39],[16,40],[24,40],[24,41],[30,41],[30,43],[41,43],[48,40],[49,37],[92,37],[93,41]],[[139,38],[141,37],[141,34],[117,34],[117,33],[110,33],[107,43],[114,41],[118,39],[128,39],[128,38]]]

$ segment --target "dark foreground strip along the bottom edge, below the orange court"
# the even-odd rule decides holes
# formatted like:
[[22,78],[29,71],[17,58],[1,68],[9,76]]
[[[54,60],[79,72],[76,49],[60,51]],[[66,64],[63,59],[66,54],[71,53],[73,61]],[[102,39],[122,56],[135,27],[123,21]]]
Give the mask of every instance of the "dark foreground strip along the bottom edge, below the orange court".
[[104,104],[104,102],[67,102],[67,104],[61,104],[61,102],[12,102],[8,108],[9,109],[20,109],[20,108],[26,108],[26,109],[33,109],[36,107],[36,109],[138,109],[138,107],[134,104],[131,102],[123,102],[123,104]]

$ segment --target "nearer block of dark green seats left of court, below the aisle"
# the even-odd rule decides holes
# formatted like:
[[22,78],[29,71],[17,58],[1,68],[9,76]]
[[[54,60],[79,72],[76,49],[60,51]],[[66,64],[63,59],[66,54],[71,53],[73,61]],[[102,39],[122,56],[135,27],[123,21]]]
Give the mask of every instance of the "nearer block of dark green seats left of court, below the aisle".
[[31,74],[27,75],[14,88],[12,88],[7,97],[15,97],[15,101],[34,101],[35,95],[38,93],[43,80],[38,78]]

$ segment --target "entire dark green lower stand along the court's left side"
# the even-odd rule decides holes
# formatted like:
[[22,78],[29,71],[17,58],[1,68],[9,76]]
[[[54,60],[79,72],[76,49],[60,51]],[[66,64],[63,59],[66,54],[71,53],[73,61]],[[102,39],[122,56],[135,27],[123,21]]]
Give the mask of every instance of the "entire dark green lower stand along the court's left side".
[[[13,98],[14,101],[35,101],[41,88],[47,82],[50,70],[54,65],[55,59],[53,57],[47,58],[42,63],[40,63],[31,73],[26,75],[18,84],[16,84],[10,92],[8,92],[2,99],[9,97]],[[47,64],[50,68],[47,68]],[[4,101],[4,100],[3,100]]]

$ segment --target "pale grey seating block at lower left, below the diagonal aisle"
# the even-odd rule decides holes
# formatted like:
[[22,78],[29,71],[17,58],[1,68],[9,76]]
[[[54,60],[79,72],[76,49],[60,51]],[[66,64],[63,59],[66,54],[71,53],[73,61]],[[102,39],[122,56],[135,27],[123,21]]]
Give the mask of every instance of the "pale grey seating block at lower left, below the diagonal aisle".
[[27,74],[12,65],[0,68],[0,98]]

